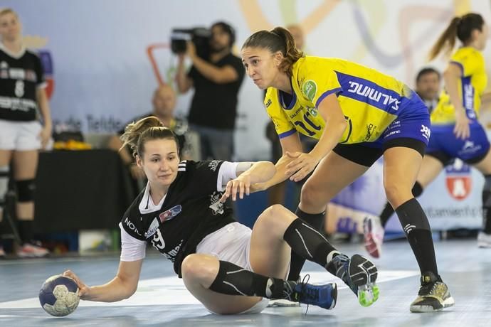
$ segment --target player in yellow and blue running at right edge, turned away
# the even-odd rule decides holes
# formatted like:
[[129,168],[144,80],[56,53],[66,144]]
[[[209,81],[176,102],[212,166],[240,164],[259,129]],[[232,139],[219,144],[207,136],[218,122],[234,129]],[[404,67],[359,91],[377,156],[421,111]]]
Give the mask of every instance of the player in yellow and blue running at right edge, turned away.
[[[477,168],[485,177],[482,189],[483,230],[477,237],[479,247],[491,247],[491,153],[490,142],[482,125],[477,122],[481,95],[487,84],[484,58],[488,27],[479,14],[455,17],[433,45],[430,58],[444,48],[453,50],[455,38],[462,42],[450,58],[443,74],[445,90],[431,114],[431,139],[413,186],[419,196],[455,158]],[[364,221],[365,247],[374,257],[381,252],[384,226],[394,213],[387,203],[375,219]]]

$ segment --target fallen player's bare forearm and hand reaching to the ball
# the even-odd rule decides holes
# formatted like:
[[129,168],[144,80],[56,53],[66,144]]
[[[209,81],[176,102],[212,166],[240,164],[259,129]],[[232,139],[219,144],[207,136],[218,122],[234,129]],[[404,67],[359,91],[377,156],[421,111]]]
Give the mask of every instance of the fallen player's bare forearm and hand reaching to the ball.
[[70,270],[63,276],[70,277],[78,284],[80,299],[87,301],[116,302],[129,298],[137,290],[139,273],[143,259],[132,262],[120,262],[116,277],[100,286],[87,286]]

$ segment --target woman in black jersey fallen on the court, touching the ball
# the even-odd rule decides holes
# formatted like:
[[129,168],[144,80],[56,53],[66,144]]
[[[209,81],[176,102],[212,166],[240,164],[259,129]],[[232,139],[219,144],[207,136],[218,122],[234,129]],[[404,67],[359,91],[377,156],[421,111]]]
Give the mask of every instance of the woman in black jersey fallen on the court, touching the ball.
[[332,309],[335,284],[285,281],[291,249],[342,278],[355,294],[373,286],[377,273],[369,260],[357,254],[339,260],[344,254],[281,205],[265,210],[253,230],[233,219],[223,201],[243,198],[251,184],[271,178],[272,163],[179,162],[176,136],[156,117],[128,125],[122,139],[132,146],[149,182],[120,223],[116,277],[89,287],[73,272],[64,273],[78,283],[81,299],[110,302],[134,294],[147,242],[174,262],[186,288],[213,313],[258,313],[267,299]]

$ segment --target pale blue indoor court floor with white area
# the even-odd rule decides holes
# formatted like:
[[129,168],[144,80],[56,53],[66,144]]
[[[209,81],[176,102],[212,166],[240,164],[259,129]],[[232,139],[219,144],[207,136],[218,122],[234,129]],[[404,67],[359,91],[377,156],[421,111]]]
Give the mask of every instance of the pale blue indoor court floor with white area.
[[[0,326],[491,326],[491,249],[478,249],[475,240],[435,243],[440,275],[450,286],[455,306],[437,313],[411,313],[419,274],[407,242],[386,242],[379,268],[380,299],[359,306],[352,291],[315,264],[302,274],[310,282],[338,282],[332,311],[310,306],[268,308],[255,315],[217,316],[206,311],[184,288],[171,262],[147,251],[137,292],[112,304],[80,301],[70,316],[48,316],[38,302],[38,289],[53,275],[72,269],[88,285],[114,277],[117,254],[105,257],[14,259],[0,262]],[[347,254],[364,254],[361,245],[339,245]]]

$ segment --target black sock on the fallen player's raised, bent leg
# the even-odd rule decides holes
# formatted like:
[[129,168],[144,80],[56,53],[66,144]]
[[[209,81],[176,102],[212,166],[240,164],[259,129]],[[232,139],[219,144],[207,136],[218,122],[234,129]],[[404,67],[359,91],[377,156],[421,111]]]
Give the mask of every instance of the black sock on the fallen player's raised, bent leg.
[[295,254],[322,267],[326,267],[329,253],[337,252],[320,232],[301,219],[293,220],[285,230],[283,239],[292,247]]

